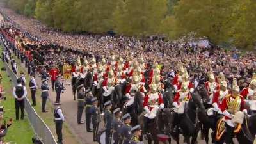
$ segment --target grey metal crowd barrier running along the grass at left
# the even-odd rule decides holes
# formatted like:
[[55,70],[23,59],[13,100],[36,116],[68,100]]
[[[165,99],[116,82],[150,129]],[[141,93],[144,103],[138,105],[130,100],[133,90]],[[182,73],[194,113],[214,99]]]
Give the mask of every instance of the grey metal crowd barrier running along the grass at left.
[[[4,45],[4,49],[6,49],[6,45]],[[16,76],[16,74],[13,73],[13,71],[6,62],[4,62],[4,67],[6,68],[6,71],[12,79],[13,86],[15,86],[17,84],[18,77]],[[25,99],[25,111],[28,114],[30,124],[35,131],[36,136],[38,136],[38,138],[40,138],[40,140],[42,140],[44,144],[57,144],[51,130],[49,129],[49,127],[47,127],[44,120],[42,120],[42,118],[40,118],[40,116],[36,113],[35,109],[31,106],[27,97]]]

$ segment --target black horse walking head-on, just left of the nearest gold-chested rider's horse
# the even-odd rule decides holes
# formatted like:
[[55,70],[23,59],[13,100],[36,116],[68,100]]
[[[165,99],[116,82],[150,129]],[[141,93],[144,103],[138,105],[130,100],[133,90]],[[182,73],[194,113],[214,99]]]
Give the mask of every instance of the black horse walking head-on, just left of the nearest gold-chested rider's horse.
[[[204,120],[205,118],[205,109],[202,104],[202,100],[199,94],[199,90],[196,89],[193,93],[191,93],[192,99],[188,102],[188,108],[185,109],[184,114],[180,117],[179,126],[182,129],[182,134],[185,137],[185,141],[187,144],[195,144],[196,138],[198,136],[198,132],[200,130],[199,121]],[[175,138],[177,133],[172,132],[172,136],[177,143],[179,143],[179,138]],[[192,140],[190,141],[190,138]]]

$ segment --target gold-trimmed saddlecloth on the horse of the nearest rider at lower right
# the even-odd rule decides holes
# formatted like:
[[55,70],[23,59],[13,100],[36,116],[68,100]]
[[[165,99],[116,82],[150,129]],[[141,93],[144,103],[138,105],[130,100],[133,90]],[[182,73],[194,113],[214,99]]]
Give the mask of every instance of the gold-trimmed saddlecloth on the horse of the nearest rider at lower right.
[[[238,134],[241,131],[241,127],[242,124],[238,124],[236,125],[235,129],[234,129],[234,134]],[[220,118],[217,122],[217,127],[216,127],[216,135],[215,135],[215,140],[216,141],[220,141],[223,134],[225,133],[225,122],[224,122],[224,118]]]

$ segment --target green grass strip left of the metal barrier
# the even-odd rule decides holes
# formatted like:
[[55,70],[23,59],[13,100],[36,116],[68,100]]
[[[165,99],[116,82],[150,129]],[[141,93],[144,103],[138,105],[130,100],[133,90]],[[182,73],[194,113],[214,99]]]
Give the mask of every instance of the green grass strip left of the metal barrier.
[[[2,49],[1,49],[2,51]],[[0,52],[1,52],[0,51]],[[0,61],[0,68],[4,67],[3,61]],[[2,85],[4,87],[4,96],[6,100],[1,102],[1,106],[4,106],[4,119],[8,121],[13,119],[13,124],[9,127],[4,141],[13,141],[17,144],[29,144],[32,143],[31,138],[34,136],[33,129],[29,124],[28,117],[25,116],[24,120],[15,120],[15,104],[12,96],[12,82],[10,77],[5,71],[0,72],[3,79]]]

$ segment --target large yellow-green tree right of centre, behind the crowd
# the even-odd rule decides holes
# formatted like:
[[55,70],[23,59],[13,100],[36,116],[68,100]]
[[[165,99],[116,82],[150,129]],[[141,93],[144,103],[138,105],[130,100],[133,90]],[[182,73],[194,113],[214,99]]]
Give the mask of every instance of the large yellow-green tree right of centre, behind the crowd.
[[236,3],[237,0],[180,0],[174,8],[176,36],[195,33],[206,36],[213,44],[230,40],[228,30],[234,23],[231,13]]

